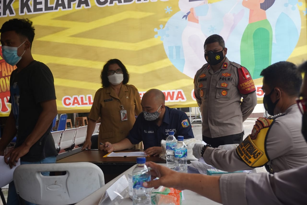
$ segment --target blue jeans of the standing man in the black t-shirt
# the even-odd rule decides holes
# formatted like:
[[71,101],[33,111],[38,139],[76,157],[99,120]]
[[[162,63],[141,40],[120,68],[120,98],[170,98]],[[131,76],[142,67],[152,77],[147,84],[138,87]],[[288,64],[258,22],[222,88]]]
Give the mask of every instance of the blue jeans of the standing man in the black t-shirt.
[[[56,156],[53,157],[46,157],[45,159],[41,161],[35,161],[35,162],[26,162],[26,161],[20,161],[20,164],[47,164],[47,163],[56,163]],[[41,172],[44,176],[49,176],[50,172]],[[26,205],[36,205],[35,203],[30,203],[25,201]],[[12,181],[9,184],[9,191],[7,194],[7,205],[19,205],[19,199],[18,195],[15,189],[14,181]]]

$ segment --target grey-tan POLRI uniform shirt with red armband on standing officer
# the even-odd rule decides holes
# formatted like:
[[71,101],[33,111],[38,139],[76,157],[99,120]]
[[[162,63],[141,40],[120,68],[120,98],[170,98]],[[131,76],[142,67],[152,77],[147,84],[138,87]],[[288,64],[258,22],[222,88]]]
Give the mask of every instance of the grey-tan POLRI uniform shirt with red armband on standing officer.
[[246,68],[227,58],[216,72],[209,64],[204,64],[196,72],[194,93],[203,120],[202,134],[206,137],[243,132],[243,121],[257,104],[251,75]]

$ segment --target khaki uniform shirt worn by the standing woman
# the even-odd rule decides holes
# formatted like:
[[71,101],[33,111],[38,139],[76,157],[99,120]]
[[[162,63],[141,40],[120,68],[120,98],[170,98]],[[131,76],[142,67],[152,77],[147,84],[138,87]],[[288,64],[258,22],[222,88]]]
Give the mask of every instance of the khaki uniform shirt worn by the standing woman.
[[[121,105],[127,110],[128,120],[121,120]],[[88,118],[98,120],[101,118],[99,128],[100,142],[116,143],[126,138],[135,122],[135,115],[142,112],[141,98],[133,85],[122,84],[119,96],[109,87],[100,88],[95,93],[94,102]],[[141,143],[136,149],[142,148]]]

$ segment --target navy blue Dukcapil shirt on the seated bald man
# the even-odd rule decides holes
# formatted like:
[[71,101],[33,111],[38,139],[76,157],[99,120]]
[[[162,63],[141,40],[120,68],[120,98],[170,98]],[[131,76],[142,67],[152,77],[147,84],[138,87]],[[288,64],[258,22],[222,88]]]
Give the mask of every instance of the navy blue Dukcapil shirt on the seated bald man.
[[183,136],[185,139],[194,138],[191,122],[181,110],[171,109],[165,106],[165,113],[161,126],[157,126],[155,121],[147,121],[144,114],[139,114],[127,138],[132,144],[143,141],[144,149],[160,146],[161,140],[165,140],[169,131],[175,133],[175,137]]

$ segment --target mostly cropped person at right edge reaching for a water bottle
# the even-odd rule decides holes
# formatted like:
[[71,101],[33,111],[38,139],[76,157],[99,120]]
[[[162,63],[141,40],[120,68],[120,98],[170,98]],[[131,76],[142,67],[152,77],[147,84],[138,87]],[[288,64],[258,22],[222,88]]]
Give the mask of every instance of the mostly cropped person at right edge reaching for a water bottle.
[[[307,62],[302,68],[305,77],[297,104],[303,113],[301,132],[307,141]],[[222,176],[179,173],[153,162],[146,162],[146,165],[152,168],[152,179],[159,177],[158,180],[144,182],[146,188],[162,185],[180,190],[189,189],[225,205],[303,205],[307,201],[307,164],[274,175],[262,172]]]

